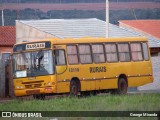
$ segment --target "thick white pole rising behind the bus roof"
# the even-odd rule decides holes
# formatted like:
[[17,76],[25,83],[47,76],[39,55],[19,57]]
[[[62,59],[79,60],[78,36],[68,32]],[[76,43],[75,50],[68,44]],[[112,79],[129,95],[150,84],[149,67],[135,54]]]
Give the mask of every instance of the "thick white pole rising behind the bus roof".
[[109,38],[109,0],[106,0],[106,38]]

